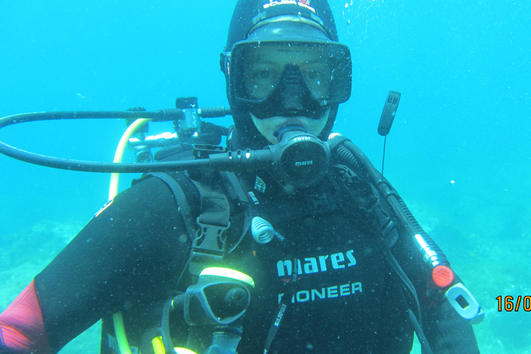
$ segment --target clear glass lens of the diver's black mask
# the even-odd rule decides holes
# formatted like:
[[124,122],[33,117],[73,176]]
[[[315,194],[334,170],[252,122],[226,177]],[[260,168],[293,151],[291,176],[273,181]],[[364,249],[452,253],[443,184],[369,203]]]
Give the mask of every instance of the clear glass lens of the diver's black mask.
[[247,102],[264,100],[281,80],[286,65],[299,66],[315,99],[348,100],[351,92],[350,52],[342,44],[304,42],[240,42],[231,53],[231,93]]

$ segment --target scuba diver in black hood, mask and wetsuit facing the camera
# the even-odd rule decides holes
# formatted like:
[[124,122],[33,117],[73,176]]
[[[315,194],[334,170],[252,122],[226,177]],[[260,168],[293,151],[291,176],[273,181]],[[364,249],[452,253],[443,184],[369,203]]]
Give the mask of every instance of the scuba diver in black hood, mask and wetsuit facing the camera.
[[409,353],[413,333],[423,353],[479,353],[443,252],[331,134],[352,64],[327,1],[239,0],[220,63],[230,158],[283,157],[143,175],[1,313],[0,353],[57,353],[100,319],[103,354]]

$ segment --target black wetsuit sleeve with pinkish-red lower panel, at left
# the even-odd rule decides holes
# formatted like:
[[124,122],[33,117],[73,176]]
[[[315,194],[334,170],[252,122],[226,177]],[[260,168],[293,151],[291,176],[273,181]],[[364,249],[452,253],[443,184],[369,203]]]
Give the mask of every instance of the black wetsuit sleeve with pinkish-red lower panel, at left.
[[0,353],[57,353],[105,315],[165,299],[188,252],[169,188],[158,178],[138,183],[92,218],[0,315]]

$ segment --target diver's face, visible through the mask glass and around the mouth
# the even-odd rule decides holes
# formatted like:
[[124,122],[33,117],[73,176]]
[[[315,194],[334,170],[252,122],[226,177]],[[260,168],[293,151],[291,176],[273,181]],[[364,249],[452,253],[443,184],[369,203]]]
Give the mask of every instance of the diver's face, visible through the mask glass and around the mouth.
[[[326,57],[316,55],[315,49],[304,46],[259,46],[249,50],[245,55],[245,73],[243,76],[245,89],[250,97],[261,100],[272,91],[279,82],[284,67],[288,64],[299,66],[304,83],[314,97],[326,97],[330,89],[332,68]],[[318,136],[322,132],[330,109],[319,119],[302,116],[283,117],[274,116],[258,119],[251,113],[252,121],[258,131],[272,144],[279,142],[274,132],[286,125],[299,125],[308,133]]]

